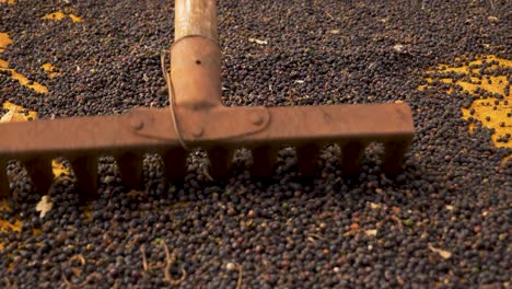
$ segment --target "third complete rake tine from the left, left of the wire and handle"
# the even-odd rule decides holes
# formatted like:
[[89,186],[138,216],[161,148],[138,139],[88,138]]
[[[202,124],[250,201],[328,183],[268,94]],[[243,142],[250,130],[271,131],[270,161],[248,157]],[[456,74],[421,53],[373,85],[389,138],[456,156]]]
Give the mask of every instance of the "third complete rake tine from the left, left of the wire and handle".
[[121,174],[123,184],[128,189],[142,189],[142,161],[141,153],[125,152],[116,157],[117,166]]

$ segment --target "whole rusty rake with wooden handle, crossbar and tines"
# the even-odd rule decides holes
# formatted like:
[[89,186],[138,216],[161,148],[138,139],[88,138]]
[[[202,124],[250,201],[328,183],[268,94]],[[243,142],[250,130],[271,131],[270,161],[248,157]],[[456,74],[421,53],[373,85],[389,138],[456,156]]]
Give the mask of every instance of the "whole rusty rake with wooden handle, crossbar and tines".
[[7,162],[19,160],[37,192],[53,184],[51,160],[70,161],[77,185],[88,194],[97,189],[97,162],[113,155],[123,183],[142,186],[146,153],[159,153],[170,180],[186,174],[190,150],[205,150],[212,177],[230,173],[233,152],[251,150],[255,177],[271,175],[277,153],[296,149],[300,175],[316,172],[325,146],[340,147],[340,169],[358,172],[365,147],[384,144],[383,172],[402,170],[414,137],[411,111],[405,103],[364,105],[236,106],[222,105],[221,50],[214,0],[175,1],[175,41],[171,73],[166,73],[166,108],[133,108],[123,115],[38,119],[0,125],[0,195],[10,193]]

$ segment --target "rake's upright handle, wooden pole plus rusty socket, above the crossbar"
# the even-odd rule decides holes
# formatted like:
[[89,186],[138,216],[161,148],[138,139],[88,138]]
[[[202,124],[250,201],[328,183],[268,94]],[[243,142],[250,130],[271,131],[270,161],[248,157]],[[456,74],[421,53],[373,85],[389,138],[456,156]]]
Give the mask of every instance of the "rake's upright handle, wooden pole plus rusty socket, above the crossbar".
[[176,0],[174,34],[170,88],[174,104],[191,109],[221,105],[216,0]]

